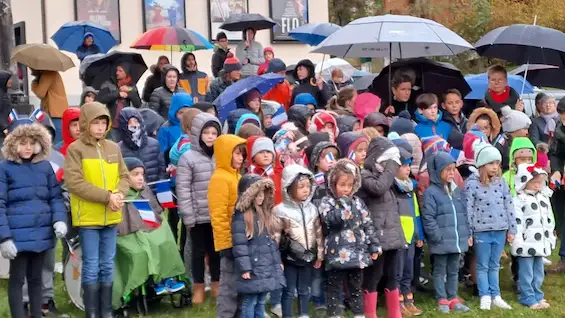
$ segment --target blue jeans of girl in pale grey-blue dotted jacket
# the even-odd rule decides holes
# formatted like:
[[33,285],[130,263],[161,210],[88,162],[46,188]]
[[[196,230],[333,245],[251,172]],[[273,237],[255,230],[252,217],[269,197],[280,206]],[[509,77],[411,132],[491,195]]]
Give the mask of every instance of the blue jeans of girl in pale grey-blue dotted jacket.
[[479,296],[500,296],[498,274],[506,231],[478,232],[473,236]]

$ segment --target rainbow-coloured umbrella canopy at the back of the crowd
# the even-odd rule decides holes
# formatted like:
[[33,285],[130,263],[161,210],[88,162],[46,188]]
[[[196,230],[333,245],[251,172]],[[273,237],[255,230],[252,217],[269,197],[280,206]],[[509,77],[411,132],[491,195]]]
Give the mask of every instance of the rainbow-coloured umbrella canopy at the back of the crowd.
[[162,27],[148,30],[130,46],[134,49],[192,52],[214,46],[202,34],[187,28]]

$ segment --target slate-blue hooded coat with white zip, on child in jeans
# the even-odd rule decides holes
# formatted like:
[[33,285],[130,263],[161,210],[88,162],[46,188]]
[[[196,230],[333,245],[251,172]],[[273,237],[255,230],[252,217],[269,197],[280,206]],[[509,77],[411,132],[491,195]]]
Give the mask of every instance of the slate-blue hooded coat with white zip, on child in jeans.
[[431,254],[465,253],[471,237],[462,191],[451,183],[451,191],[441,180],[441,171],[455,160],[445,152],[428,159],[431,184],[424,192],[422,225]]

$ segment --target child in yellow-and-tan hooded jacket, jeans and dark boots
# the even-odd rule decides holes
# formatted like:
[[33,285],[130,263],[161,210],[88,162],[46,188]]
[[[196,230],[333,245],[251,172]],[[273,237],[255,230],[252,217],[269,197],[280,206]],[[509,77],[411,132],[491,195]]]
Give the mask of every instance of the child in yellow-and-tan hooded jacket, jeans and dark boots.
[[80,138],[67,149],[65,185],[82,248],[85,312],[90,317],[109,317],[117,237],[114,225],[122,221],[129,174],[118,145],[104,139],[111,128],[106,106],[84,104],[79,123]]

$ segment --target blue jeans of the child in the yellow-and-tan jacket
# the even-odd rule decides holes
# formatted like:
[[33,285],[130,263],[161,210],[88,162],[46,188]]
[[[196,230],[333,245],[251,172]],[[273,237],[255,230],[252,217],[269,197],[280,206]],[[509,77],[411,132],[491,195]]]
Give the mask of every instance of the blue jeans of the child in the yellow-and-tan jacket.
[[78,235],[82,249],[82,284],[112,283],[118,228],[79,228]]

